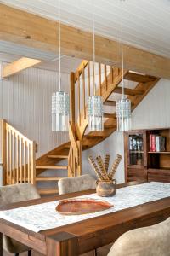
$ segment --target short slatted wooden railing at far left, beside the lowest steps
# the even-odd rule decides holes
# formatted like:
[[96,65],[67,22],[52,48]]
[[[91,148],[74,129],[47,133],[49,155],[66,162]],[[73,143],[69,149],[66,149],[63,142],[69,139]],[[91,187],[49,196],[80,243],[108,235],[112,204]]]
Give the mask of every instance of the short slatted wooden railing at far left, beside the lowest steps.
[[4,119],[2,129],[3,185],[36,180],[36,143],[14,129]]

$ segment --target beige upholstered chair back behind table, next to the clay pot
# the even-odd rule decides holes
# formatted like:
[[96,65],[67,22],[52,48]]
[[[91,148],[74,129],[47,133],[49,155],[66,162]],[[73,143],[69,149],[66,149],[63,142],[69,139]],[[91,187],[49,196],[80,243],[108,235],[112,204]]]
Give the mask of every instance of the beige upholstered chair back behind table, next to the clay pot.
[[94,177],[85,174],[78,177],[64,177],[59,180],[59,195],[73,193],[88,189],[95,189]]

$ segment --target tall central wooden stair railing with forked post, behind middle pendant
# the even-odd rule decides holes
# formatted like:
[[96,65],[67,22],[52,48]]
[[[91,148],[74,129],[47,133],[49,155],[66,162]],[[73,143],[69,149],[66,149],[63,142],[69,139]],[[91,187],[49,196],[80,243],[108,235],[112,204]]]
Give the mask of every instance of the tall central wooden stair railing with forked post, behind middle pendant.
[[103,102],[105,102],[122,80],[122,71],[119,68],[98,63],[96,77],[94,76],[94,66],[92,68],[91,64],[93,63],[90,61],[82,61],[76,73],[71,73],[70,78],[69,177],[82,174],[82,138],[88,126],[87,102],[88,96],[93,95],[92,84],[95,81],[96,95],[102,96]]

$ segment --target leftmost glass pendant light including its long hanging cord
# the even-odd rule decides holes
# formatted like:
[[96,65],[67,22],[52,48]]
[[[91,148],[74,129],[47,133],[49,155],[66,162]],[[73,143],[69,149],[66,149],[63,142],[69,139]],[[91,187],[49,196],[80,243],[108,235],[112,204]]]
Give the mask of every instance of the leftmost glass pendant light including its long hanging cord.
[[59,91],[52,95],[52,131],[67,131],[69,120],[69,95],[61,90],[61,39],[60,39],[60,0],[59,8]]

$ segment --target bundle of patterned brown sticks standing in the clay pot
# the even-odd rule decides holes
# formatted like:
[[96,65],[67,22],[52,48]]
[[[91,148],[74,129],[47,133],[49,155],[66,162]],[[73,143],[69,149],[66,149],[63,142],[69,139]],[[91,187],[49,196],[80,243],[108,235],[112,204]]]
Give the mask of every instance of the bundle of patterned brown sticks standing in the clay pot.
[[99,181],[111,181],[116,173],[116,169],[118,165],[120,164],[120,161],[122,160],[122,155],[116,154],[116,159],[111,166],[111,171],[109,172],[109,162],[110,162],[111,155],[106,154],[105,155],[105,161],[103,162],[101,156],[97,156],[96,160],[98,163],[98,166],[95,163],[94,158],[90,155],[88,157],[89,163],[94,169],[94,172],[96,173],[97,177],[99,178]]

